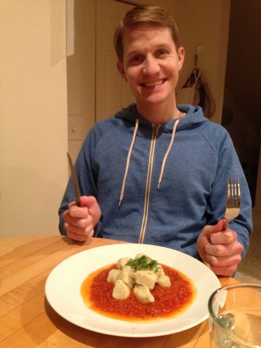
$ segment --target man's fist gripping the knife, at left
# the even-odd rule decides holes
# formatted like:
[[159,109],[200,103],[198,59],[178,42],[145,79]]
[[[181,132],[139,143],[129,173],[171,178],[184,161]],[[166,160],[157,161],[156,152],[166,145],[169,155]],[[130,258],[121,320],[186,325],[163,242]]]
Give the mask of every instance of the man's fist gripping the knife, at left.
[[100,216],[100,207],[93,196],[82,196],[81,207],[77,207],[75,202],[70,203],[68,210],[63,213],[68,237],[81,242],[90,239]]

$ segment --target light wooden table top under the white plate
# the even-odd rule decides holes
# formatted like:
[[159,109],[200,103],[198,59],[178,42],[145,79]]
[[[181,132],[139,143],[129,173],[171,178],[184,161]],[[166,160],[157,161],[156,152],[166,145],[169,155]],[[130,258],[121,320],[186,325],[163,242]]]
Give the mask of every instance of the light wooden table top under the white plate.
[[0,239],[0,347],[209,347],[207,320],[173,335],[125,338],[82,329],[49,306],[45,281],[59,262],[88,248],[118,243],[99,238],[72,242],[58,235]]

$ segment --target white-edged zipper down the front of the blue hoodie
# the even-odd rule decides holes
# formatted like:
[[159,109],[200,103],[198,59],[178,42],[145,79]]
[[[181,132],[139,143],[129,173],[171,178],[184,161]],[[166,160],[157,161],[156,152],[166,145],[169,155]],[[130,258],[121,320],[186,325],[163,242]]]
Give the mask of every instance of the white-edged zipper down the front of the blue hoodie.
[[145,237],[145,230],[146,230],[147,221],[148,221],[149,200],[150,200],[150,183],[151,183],[151,177],[152,177],[155,145],[156,145],[156,139],[157,139],[157,133],[158,133],[159,127],[160,127],[160,125],[157,125],[157,126],[152,125],[153,130],[152,130],[152,139],[151,139],[151,144],[150,144],[150,157],[149,157],[149,163],[148,163],[148,175],[147,175],[146,190],[145,190],[145,203],[144,203],[143,221],[141,224],[139,244],[143,244],[143,240]]

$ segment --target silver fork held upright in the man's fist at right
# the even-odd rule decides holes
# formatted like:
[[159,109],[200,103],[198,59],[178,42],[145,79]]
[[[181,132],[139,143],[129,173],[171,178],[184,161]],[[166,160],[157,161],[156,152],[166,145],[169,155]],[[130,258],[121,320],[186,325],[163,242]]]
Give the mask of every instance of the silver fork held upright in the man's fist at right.
[[235,219],[240,212],[240,186],[238,179],[228,179],[227,182],[227,204],[223,230],[228,228],[230,220]]

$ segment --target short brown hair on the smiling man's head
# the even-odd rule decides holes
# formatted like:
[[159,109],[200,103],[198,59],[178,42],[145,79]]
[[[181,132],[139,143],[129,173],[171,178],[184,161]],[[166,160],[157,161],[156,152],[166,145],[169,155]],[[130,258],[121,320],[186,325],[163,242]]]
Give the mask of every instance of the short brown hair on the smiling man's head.
[[148,24],[148,26],[161,26],[170,29],[176,49],[180,48],[180,35],[177,30],[177,24],[175,24],[171,15],[164,8],[154,5],[136,6],[132,10],[127,11],[114,32],[113,44],[118,60],[121,63],[123,62],[124,54],[122,42],[124,29],[131,28],[136,24]]

